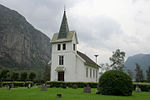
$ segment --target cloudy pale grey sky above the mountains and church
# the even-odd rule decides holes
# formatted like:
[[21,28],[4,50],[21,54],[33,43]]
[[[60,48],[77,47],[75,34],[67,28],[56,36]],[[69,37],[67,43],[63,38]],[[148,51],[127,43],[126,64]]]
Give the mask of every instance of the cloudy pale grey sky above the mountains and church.
[[70,30],[77,32],[78,50],[98,64],[109,63],[116,49],[150,54],[150,0],[0,0],[49,38],[58,32],[64,5]]

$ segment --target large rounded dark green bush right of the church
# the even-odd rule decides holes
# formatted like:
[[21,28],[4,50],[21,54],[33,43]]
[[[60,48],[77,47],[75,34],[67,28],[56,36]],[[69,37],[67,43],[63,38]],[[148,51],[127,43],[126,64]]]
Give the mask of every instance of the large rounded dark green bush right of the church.
[[131,78],[122,71],[110,70],[99,79],[100,93],[103,95],[132,95]]

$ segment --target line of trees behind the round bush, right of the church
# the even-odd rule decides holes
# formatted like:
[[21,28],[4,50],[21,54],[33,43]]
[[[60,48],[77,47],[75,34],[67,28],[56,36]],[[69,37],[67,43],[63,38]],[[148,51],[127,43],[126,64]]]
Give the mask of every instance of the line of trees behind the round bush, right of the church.
[[126,69],[126,67],[124,66],[124,62],[125,62],[124,51],[120,51],[120,49],[117,49],[116,51],[113,52],[109,60],[110,60],[110,64],[108,63],[100,64],[101,66],[100,74],[103,74],[105,71],[108,70],[122,70],[124,72],[126,72],[127,70],[128,75],[131,77],[131,79],[135,79],[136,82],[144,82],[144,81],[150,82],[150,66],[146,70],[146,80],[144,80],[143,70],[141,69],[139,64],[136,64],[136,68],[135,68],[136,74],[134,77],[133,72],[129,69]]

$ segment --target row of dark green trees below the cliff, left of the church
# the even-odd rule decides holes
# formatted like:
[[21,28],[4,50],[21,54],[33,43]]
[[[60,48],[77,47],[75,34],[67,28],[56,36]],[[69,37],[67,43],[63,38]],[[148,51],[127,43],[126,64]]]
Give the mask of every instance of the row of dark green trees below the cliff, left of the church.
[[50,81],[50,66],[46,64],[44,71],[12,71],[8,68],[0,70],[0,81]]

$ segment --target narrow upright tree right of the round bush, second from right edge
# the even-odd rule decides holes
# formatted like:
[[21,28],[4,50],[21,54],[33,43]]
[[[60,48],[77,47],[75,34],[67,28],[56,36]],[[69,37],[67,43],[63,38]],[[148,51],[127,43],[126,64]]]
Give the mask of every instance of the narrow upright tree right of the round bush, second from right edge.
[[143,82],[144,81],[143,70],[140,68],[139,64],[136,64],[135,72],[136,72],[135,75],[136,82]]

